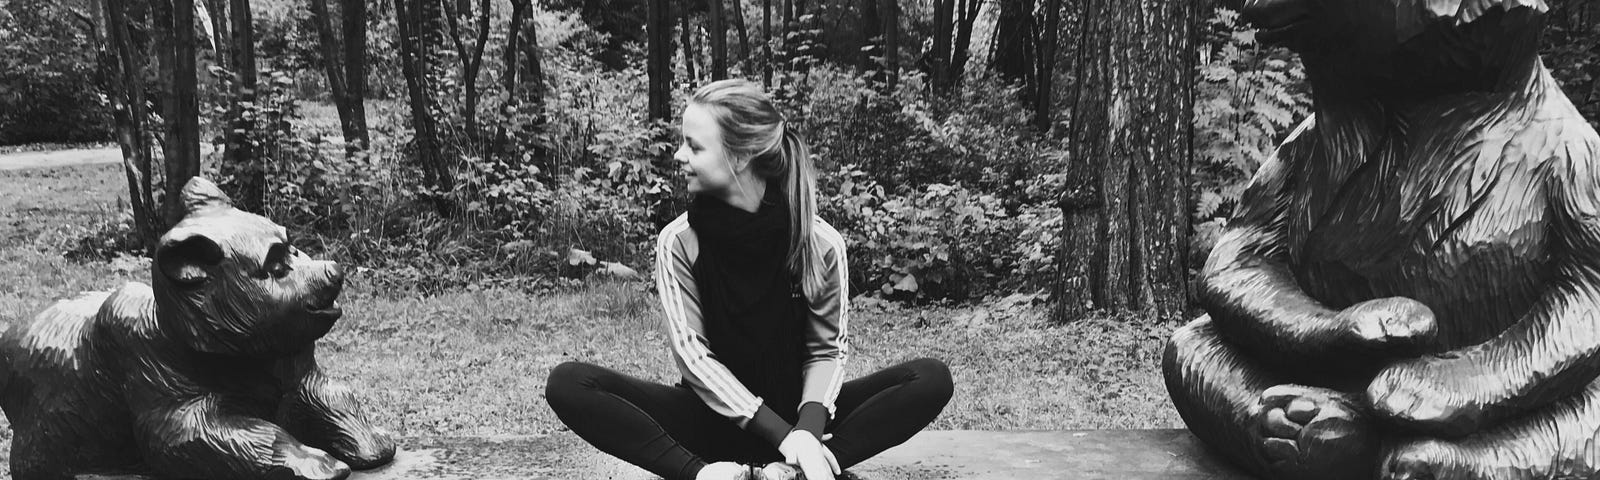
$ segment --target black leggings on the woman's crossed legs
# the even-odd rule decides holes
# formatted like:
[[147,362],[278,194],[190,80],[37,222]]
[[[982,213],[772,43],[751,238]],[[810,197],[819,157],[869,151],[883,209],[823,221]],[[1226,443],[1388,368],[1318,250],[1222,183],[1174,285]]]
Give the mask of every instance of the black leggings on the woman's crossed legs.
[[[848,381],[834,402],[827,450],[848,469],[901,445],[939,416],[950,392],[950,370],[933,358]],[[544,397],[578,437],[666,478],[694,478],[717,461],[782,461],[776,446],[706,406],[688,387],[568,362],[550,371]]]

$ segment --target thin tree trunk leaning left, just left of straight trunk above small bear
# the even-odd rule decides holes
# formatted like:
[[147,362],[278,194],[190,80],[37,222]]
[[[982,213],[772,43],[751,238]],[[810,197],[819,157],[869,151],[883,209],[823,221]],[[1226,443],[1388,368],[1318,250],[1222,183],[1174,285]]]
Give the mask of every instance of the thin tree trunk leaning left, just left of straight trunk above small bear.
[[128,206],[133,210],[133,227],[146,254],[155,254],[155,197],[150,181],[150,144],[144,134],[144,48],[134,45],[128,14],[128,2],[104,0],[102,18],[106,45],[101,64],[107,70],[107,94],[112,101],[112,122],[117,130],[117,146],[122,147],[122,170],[128,179]]

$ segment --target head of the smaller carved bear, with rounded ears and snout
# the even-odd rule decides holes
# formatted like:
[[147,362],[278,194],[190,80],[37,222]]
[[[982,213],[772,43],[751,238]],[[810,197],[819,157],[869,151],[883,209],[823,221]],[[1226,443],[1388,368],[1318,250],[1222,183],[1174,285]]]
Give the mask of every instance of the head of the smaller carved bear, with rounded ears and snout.
[[162,237],[152,272],[163,331],[200,352],[277,357],[333,328],[338,264],[310,259],[206,179],[190,179],[182,202],[187,216]]

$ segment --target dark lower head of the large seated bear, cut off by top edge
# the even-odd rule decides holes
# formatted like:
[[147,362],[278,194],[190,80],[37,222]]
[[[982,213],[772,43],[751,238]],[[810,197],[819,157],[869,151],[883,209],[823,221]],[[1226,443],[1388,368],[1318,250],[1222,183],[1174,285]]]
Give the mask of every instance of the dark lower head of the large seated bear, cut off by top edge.
[[1245,0],[1266,43],[1294,50],[1333,96],[1520,86],[1538,59],[1544,0]]

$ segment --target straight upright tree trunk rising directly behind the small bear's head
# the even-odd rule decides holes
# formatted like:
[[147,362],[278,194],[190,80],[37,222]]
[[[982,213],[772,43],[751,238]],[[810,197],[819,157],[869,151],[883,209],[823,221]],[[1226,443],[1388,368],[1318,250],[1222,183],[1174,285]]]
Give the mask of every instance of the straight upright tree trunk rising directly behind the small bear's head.
[[[165,226],[184,218],[184,184],[200,174],[200,104],[195,98],[195,5],[194,0],[155,0],[155,30],[162,80],[162,146],[166,189],[162,202]],[[237,29],[235,29],[237,30]]]

